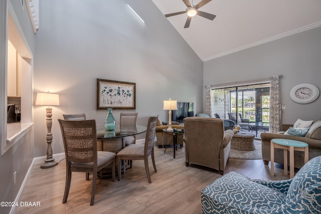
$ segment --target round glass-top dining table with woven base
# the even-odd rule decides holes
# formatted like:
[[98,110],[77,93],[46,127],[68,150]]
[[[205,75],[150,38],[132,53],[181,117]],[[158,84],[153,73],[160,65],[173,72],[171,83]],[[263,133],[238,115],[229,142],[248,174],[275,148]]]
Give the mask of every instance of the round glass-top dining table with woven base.
[[[105,129],[97,130],[97,150],[98,151],[110,151],[118,153],[125,147],[124,137],[133,136],[144,133],[147,130],[146,126],[136,125],[136,127],[119,127],[116,126],[112,131],[106,131]],[[122,171],[126,162],[122,163]],[[116,161],[117,170],[117,161]],[[116,173],[117,174],[117,173]],[[107,166],[98,172],[100,178],[111,175],[111,166]]]

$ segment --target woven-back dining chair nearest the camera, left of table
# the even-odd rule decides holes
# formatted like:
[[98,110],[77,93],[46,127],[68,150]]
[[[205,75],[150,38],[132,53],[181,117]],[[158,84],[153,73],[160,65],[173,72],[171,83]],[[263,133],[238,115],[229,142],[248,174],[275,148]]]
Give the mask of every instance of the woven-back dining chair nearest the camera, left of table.
[[63,203],[67,202],[71,172],[90,172],[92,190],[90,205],[94,204],[97,172],[111,164],[112,181],[115,181],[116,154],[108,151],[97,151],[95,120],[61,120],[58,119],[66,155],[66,184]]

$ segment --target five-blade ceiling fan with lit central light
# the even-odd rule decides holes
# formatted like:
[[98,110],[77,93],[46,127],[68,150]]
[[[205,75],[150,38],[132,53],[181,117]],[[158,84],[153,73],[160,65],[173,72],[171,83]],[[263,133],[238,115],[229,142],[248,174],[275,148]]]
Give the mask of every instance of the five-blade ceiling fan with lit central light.
[[206,19],[209,19],[209,20],[213,21],[214,18],[216,17],[216,15],[199,11],[199,9],[201,7],[203,7],[204,5],[206,5],[207,3],[211,2],[211,1],[212,0],[202,0],[199,4],[193,5],[193,0],[192,0],[192,4],[190,3],[189,0],[183,0],[184,4],[187,7],[186,11],[181,11],[181,12],[177,12],[177,13],[173,13],[173,14],[166,14],[165,17],[172,17],[172,16],[176,16],[176,15],[180,15],[180,14],[185,14],[186,13],[188,17],[187,17],[187,20],[186,20],[184,28],[190,27],[190,23],[191,23],[192,17],[194,17],[196,15],[199,15],[201,17],[204,17]]

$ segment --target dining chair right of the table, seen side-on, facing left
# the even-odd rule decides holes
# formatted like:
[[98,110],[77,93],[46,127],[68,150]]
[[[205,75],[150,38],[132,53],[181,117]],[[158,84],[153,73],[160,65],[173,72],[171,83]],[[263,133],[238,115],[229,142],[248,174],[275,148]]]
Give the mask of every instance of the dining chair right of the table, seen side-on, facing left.
[[151,183],[149,168],[148,168],[148,157],[151,155],[152,165],[154,167],[154,171],[156,172],[156,165],[154,159],[154,139],[156,132],[156,122],[157,116],[149,117],[147,123],[145,144],[130,144],[120,150],[117,153],[117,161],[118,161],[118,180],[121,178],[121,160],[144,160],[145,161],[145,171],[147,175],[148,182]]

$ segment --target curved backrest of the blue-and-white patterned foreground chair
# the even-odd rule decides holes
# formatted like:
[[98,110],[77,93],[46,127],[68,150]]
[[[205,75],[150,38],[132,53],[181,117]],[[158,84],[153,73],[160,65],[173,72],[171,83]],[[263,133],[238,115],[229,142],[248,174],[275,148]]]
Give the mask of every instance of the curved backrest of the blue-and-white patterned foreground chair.
[[286,201],[291,200],[300,190],[304,190],[314,183],[321,182],[321,156],[308,161],[293,177],[286,195]]

